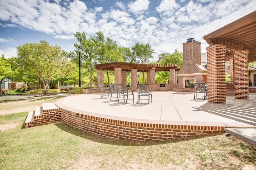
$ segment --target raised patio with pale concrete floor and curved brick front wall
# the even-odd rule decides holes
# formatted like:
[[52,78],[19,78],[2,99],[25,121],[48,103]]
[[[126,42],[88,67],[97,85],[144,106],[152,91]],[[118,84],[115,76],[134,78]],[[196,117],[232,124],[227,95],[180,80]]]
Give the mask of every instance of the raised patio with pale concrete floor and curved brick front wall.
[[152,103],[127,104],[101,93],[61,98],[62,121],[78,129],[123,140],[167,140],[224,132],[225,128],[256,127],[256,94],[249,100],[227,96],[226,104],[194,100],[191,92],[152,92]]

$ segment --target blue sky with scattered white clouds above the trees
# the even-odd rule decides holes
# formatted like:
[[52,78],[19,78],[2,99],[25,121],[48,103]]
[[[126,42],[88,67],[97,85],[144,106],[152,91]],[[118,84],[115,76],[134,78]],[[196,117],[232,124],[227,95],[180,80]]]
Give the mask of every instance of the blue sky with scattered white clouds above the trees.
[[0,55],[16,56],[25,43],[58,45],[66,52],[102,31],[119,46],[150,43],[154,61],[161,53],[183,52],[193,37],[201,53],[205,35],[256,10],[256,0],[0,0]]

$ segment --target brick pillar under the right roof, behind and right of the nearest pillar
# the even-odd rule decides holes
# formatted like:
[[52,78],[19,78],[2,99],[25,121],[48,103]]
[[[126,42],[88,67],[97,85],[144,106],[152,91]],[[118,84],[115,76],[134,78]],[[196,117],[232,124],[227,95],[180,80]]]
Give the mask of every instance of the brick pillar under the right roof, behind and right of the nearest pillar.
[[234,53],[235,98],[249,99],[248,50]]

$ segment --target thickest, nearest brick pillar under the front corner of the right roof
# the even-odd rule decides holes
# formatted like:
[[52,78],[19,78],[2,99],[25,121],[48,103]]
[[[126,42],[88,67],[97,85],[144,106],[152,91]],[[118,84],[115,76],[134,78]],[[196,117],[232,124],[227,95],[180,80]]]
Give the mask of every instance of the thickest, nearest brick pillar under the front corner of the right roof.
[[226,45],[211,45],[206,51],[208,102],[226,103]]

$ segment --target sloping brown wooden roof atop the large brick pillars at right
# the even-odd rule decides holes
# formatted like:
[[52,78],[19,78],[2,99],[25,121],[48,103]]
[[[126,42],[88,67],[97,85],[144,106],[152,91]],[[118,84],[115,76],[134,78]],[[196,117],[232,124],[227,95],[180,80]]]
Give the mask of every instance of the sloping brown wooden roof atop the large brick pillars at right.
[[209,45],[227,45],[226,60],[233,58],[235,51],[248,49],[249,62],[256,61],[256,11],[205,35],[203,38]]

